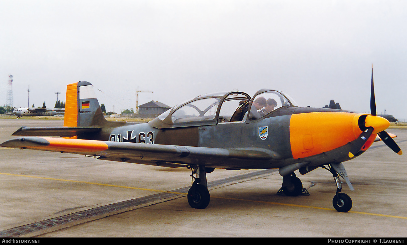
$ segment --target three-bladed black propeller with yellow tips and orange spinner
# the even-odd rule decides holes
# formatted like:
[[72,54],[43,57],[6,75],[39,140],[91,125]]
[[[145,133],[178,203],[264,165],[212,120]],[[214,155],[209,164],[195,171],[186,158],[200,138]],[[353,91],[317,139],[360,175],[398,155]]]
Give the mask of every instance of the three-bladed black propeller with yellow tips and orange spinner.
[[[376,100],[374,98],[374,85],[373,85],[373,67],[372,67],[372,87],[370,90],[370,112],[372,113],[371,116],[366,116],[365,118],[365,129],[363,133],[360,134],[359,138],[357,138],[356,142],[354,143],[352,149],[349,151],[349,157],[353,158],[356,153],[360,151],[366,141],[373,133],[377,133],[381,140],[395,153],[398,155],[403,154],[400,147],[396,144],[392,137],[384,131],[389,127],[390,123],[385,118],[377,116],[376,114]],[[384,120],[383,120],[384,119]]]

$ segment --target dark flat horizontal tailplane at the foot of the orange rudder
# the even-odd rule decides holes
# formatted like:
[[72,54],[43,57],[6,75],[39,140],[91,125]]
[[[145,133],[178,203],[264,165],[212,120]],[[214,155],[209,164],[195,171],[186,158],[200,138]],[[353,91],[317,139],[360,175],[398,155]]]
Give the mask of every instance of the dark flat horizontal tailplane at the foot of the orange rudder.
[[21,127],[12,135],[73,137],[81,133],[101,131],[101,127]]

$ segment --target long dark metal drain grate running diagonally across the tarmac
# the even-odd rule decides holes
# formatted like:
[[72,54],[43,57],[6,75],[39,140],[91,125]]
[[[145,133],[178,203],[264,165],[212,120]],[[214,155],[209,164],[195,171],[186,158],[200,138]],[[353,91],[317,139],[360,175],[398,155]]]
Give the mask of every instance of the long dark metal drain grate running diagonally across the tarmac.
[[[276,171],[276,169],[266,169],[266,170],[262,170],[262,171],[256,171],[253,173],[237,175],[237,176],[229,177],[229,178],[225,178],[225,179],[219,179],[216,181],[208,182],[208,187],[220,186],[222,184],[227,184],[227,183],[239,181],[242,179],[249,179],[249,178],[253,178],[256,176],[270,174],[275,171]],[[177,193],[186,194],[186,193],[188,193],[188,190],[189,190],[189,187],[179,188],[176,190],[171,190],[171,192],[157,193],[157,194],[149,195],[147,197],[140,197],[140,198],[131,199],[131,200],[127,200],[127,201],[121,201],[118,203],[112,203],[112,204],[108,204],[108,205],[97,207],[97,208],[83,210],[81,212],[67,214],[67,215],[63,215],[60,217],[47,219],[44,221],[38,221],[38,222],[31,223],[28,225],[22,225],[19,227],[11,228],[9,230],[3,230],[0,232],[0,237],[18,237],[18,236],[23,236],[23,235],[26,235],[26,234],[29,234],[32,232],[39,232],[41,230],[50,229],[53,227],[63,226],[63,225],[65,225],[65,227],[68,227],[69,226],[68,224],[72,223],[72,222],[77,222],[77,221],[81,221],[81,220],[85,220],[85,219],[92,219],[95,217],[103,216],[104,214],[118,212],[120,210],[125,210],[126,208],[133,208],[136,206],[151,203],[153,201],[159,201],[162,199],[175,197],[175,196],[179,195]],[[58,228],[62,229],[64,227],[58,227]]]

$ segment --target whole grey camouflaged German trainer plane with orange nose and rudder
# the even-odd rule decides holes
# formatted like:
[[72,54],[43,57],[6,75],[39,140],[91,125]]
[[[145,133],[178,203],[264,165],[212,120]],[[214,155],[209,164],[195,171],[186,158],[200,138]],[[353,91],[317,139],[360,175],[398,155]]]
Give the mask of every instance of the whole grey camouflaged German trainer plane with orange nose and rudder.
[[[267,103],[275,98],[274,102],[279,105],[261,116],[260,110],[255,108],[256,99],[260,97],[264,101],[264,97],[268,98]],[[187,166],[197,174],[191,194],[188,192],[188,202],[193,208],[206,208],[209,193],[205,189],[205,172],[214,168],[278,168],[283,177],[282,186],[288,188],[300,182],[294,171],[306,174],[329,165],[334,178],[339,174],[351,187],[341,162],[365,152],[377,134],[388,126],[389,122],[378,116],[298,107],[282,92],[267,89],[259,90],[253,99],[236,91],[197,96],[149,123],[111,122],[104,118],[92,85],[80,81],[67,85],[64,127],[21,127],[13,135],[25,137],[0,146],[93,155],[100,160],[165,167]],[[366,134],[367,129],[371,135]],[[368,139],[363,138],[364,135],[368,135]],[[358,145],[359,138],[363,138],[362,147]],[[356,152],[351,153],[355,145]],[[401,154],[401,150],[398,153]],[[301,183],[295,185],[302,189]],[[338,182],[337,188],[334,207],[338,199],[339,210],[335,209],[348,212],[351,200],[349,198],[350,207],[340,210],[340,201],[349,201],[338,195],[341,190]],[[201,199],[205,203],[202,204]]]

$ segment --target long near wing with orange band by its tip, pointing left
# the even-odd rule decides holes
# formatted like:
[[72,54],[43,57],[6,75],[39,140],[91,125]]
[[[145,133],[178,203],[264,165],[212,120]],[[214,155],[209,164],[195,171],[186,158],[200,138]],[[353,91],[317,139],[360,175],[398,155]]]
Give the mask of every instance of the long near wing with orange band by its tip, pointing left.
[[55,151],[99,156],[98,159],[156,166],[180,167],[202,164],[214,168],[256,168],[280,162],[278,153],[260,148],[220,149],[132,142],[21,137],[1,147]]

